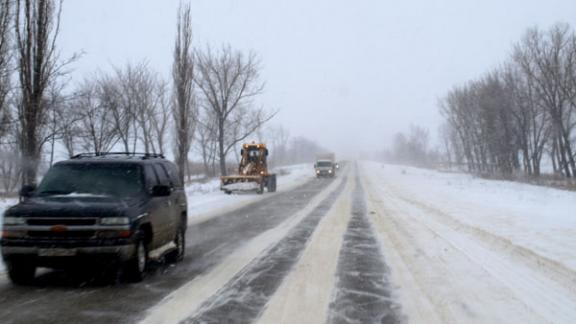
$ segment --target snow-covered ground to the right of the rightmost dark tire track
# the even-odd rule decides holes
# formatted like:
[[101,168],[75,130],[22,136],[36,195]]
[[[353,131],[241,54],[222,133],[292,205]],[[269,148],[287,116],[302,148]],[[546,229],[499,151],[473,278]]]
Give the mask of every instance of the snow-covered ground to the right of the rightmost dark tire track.
[[363,163],[411,322],[573,323],[576,193]]

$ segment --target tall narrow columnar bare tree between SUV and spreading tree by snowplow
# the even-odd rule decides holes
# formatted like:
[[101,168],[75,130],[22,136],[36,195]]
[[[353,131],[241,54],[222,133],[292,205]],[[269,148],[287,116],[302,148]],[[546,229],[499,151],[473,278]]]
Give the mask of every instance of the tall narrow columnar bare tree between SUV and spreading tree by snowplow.
[[174,82],[173,117],[176,165],[182,178],[188,165],[188,153],[196,127],[198,105],[194,92],[194,54],[192,51],[192,18],[190,4],[180,5],[174,43],[172,79]]

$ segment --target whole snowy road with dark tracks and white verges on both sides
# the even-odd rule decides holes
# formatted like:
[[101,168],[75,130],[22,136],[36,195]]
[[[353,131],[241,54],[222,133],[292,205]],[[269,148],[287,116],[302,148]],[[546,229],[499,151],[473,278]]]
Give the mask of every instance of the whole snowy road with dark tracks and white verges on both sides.
[[141,284],[0,274],[0,322],[576,322],[576,193],[369,162],[335,179],[295,169],[275,194],[190,188],[186,259]]

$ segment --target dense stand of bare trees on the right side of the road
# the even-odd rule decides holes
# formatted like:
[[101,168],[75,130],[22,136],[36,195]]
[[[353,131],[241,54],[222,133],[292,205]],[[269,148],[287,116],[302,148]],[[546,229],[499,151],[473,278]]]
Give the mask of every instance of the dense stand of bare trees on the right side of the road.
[[576,177],[576,34],[531,28],[499,68],[440,100],[448,161],[470,172]]

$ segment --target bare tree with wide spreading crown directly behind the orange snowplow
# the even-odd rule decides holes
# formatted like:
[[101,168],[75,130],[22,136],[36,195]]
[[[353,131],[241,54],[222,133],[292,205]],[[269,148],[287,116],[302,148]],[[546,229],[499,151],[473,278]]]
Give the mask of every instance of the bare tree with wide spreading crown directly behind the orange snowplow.
[[262,93],[259,63],[254,53],[248,55],[225,46],[218,52],[196,51],[198,75],[195,82],[203,97],[203,106],[215,118],[220,173],[226,175],[226,157],[274,114],[253,107]]

